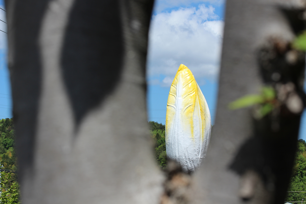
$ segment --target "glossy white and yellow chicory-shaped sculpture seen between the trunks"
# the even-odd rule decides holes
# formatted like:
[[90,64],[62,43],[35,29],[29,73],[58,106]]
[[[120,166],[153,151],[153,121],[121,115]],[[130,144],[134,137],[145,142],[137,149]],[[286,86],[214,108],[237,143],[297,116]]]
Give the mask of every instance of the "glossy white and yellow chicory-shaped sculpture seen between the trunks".
[[193,172],[205,157],[210,134],[207,102],[192,72],[180,65],[167,102],[167,157],[177,161],[185,172]]

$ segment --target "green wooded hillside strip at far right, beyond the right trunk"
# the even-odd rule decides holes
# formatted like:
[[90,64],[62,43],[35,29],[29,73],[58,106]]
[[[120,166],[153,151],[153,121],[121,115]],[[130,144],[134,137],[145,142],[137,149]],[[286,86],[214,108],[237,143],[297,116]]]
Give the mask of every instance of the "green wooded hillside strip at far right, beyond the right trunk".
[[[306,142],[303,139],[299,139],[297,143],[296,159],[288,191],[306,191]],[[306,192],[288,192],[285,201],[297,202],[302,199],[306,200]]]

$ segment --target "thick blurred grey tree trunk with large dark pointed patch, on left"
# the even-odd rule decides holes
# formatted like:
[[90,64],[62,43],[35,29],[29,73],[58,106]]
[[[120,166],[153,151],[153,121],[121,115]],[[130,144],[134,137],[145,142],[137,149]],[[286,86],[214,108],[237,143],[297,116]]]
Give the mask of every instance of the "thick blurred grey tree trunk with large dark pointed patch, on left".
[[158,203],[145,100],[153,0],[6,7],[22,203]]

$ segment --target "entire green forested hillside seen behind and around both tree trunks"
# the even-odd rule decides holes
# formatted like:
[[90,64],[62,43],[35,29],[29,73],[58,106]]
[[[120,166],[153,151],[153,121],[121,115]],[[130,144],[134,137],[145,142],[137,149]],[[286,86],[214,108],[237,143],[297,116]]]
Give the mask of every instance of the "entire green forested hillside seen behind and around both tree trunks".
[[[165,169],[167,165],[165,125],[154,121],[149,121],[149,125],[150,134],[154,141],[155,159],[159,166]],[[3,165],[2,168],[17,171],[13,119],[6,118],[0,120],[0,134],[0,161]],[[7,181],[7,187],[10,187],[14,181],[17,181],[17,174],[12,173]],[[1,182],[3,183],[3,181]],[[297,143],[296,160],[288,191],[306,191],[306,142],[303,139],[298,140]],[[302,199],[306,200],[306,192],[289,192],[285,201],[296,202]]]

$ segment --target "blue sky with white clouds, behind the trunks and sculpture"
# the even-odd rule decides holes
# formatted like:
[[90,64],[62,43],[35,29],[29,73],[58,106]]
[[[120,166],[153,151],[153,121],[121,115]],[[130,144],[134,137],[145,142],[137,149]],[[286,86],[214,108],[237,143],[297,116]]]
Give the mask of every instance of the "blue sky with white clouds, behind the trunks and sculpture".
[[[0,7],[5,9],[3,0],[0,0]],[[195,76],[214,123],[224,7],[224,0],[155,1],[147,61],[149,121],[165,124],[170,85],[179,65],[184,64]],[[6,22],[5,12],[1,9],[0,20]],[[6,32],[6,24],[1,21],[0,30]],[[0,31],[0,119],[12,117],[6,56],[7,36]],[[306,140],[305,112],[301,121],[300,138]]]

